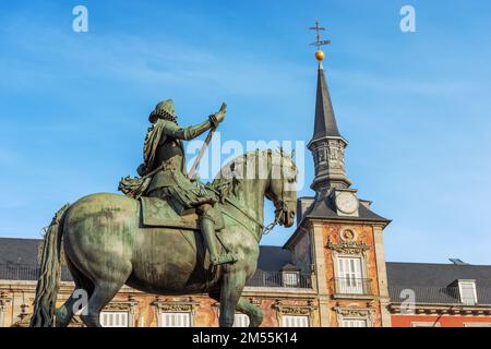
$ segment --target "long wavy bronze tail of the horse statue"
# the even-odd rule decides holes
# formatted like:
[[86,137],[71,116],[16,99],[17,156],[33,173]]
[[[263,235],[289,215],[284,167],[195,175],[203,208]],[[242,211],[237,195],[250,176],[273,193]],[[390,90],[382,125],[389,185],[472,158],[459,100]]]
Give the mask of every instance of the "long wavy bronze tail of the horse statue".
[[61,207],[46,230],[43,244],[39,278],[34,299],[31,327],[52,327],[58,285],[61,278],[61,237],[64,213],[70,204]]

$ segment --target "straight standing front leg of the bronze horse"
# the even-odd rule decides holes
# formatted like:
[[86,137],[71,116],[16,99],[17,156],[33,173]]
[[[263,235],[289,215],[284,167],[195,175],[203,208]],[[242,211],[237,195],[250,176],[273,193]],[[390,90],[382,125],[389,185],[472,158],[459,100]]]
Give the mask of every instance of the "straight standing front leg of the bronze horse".
[[232,327],[236,308],[246,285],[243,270],[227,270],[220,289],[220,327]]

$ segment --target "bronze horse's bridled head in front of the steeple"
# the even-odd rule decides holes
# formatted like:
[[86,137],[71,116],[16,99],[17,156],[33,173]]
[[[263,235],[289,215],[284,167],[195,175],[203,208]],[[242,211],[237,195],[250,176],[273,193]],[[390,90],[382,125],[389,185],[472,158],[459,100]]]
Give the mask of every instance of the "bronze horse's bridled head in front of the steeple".
[[265,195],[275,205],[275,216],[279,225],[291,227],[297,206],[297,166],[289,154],[270,152],[270,182]]

